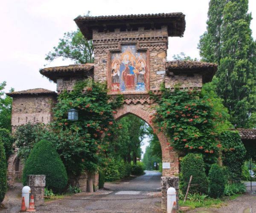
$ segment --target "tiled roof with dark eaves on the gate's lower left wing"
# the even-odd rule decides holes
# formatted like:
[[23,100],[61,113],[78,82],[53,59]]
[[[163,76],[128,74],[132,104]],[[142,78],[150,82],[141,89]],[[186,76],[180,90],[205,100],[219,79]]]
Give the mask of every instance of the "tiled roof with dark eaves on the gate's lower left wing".
[[57,83],[58,78],[66,77],[77,77],[88,78],[88,76],[93,76],[93,63],[86,64],[73,64],[69,66],[56,66],[41,69],[39,72],[45,77],[49,78],[51,81]]

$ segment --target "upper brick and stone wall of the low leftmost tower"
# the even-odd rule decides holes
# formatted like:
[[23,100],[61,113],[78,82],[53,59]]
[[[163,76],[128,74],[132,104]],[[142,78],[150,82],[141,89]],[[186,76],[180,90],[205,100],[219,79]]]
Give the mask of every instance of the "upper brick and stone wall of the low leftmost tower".
[[56,101],[52,95],[20,95],[12,100],[12,132],[29,122],[47,124],[52,121],[51,109]]

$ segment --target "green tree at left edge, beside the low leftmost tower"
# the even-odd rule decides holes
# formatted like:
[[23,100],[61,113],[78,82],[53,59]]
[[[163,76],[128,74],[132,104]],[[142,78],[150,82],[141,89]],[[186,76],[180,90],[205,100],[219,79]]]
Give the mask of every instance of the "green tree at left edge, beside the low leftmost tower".
[[[12,131],[12,98],[5,95],[6,81],[0,84],[0,127]],[[12,88],[10,92],[14,92]]]

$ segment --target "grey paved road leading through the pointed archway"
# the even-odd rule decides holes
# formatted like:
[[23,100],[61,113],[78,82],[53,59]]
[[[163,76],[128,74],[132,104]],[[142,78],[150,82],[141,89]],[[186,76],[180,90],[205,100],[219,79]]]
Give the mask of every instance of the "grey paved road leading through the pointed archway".
[[[108,194],[102,194],[102,192],[100,194],[96,192],[92,195],[76,194],[70,199],[49,201],[46,205],[35,209],[38,213],[164,213],[165,211],[161,210],[161,198],[154,197],[154,195],[157,196],[160,193],[157,188],[160,188],[162,174],[152,171],[145,172],[145,175],[131,181],[119,184],[106,183],[105,187],[109,190],[102,192]],[[151,196],[148,196],[148,194]],[[109,201],[106,201],[106,199]],[[20,205],[20,202],[18,205]],[[0,212],[16,213],[19,210],[20,206],[17,206]]]

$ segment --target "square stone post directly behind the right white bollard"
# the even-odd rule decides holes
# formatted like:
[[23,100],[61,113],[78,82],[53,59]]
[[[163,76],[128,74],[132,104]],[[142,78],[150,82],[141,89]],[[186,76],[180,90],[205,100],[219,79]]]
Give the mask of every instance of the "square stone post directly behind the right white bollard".
[[162,204],[161,208],[167,209],[167,190],[174,187],[176,190],[176,206],[179,208],[179,177],[161,177],[162,186]]

